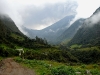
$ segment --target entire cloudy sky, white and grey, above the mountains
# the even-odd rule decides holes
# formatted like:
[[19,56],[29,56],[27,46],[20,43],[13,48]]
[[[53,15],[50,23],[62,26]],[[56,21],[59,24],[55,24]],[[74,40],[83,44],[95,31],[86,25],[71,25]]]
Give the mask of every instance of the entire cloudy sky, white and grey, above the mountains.
[[100,0],[0,0],[0,13],[8,14],[16,25],[42,29],[68,15],[87,18]]

